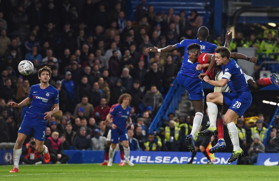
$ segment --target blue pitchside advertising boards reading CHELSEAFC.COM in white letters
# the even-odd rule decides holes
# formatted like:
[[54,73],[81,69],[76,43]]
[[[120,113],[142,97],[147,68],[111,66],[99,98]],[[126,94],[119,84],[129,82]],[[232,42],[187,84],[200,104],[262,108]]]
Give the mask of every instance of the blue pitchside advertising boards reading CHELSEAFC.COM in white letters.
[[[92,150],[64,150],[70,156],[68,163],[101,163],[104,160],[104,151]],[[190,152],[164,152],[164,151],[131,151],[130,161],[134,164],[187,164],[191,159]],[[228,163],[231,153],[215,153],[213,164]],[[119,151],[115,152],[114,163],[120,163]],[[207,158],[198,152],[193,164],[206,164]],[[13,164],[13,150],[0,150],[0,165]],[[278,165],[278,153],[259,153],[256,165],[274,166]]]

